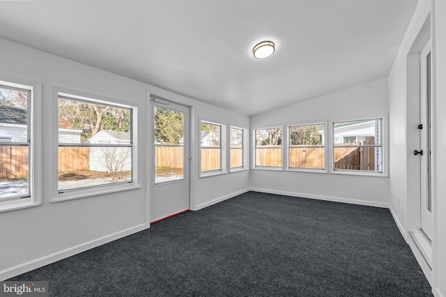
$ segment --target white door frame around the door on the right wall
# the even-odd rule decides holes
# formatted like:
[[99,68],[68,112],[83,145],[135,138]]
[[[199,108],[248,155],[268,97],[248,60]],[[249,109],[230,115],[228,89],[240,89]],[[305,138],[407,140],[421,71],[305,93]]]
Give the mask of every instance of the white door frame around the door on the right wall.
[[[433,269],[433,258],[435,258],[435,242],[436,242],[436,114],[431,114],[432,127],[432,151],[431,160],[433,166],[432,170],[432,207],[433,207],[433,238],[429,239],[421,230],[421,162],[420,156],[414,156],[414,150],[420,150],[420,54],[426,42],[431,38],[431,13],[426,10],[424,22],[420,23],[419,31],[414,36],[412,46],[410,47],[406,56],[406,161],[407,161],[407,179],[406,179],[406,205],[401,207],[406,208],[406,235],[410,248],[413,250],[418,263],[420,264],[426,278],[431,282],[431,275]],[[431,54],[434,58],[434,53]],[[434,59],[431,61],[433,67],[435,65]],[[435,90],[435,73],[432,74],[432,88]],[[431,109],[435,111],[435,94],[431,94]],[[400,202],[398,202],[400,203]],[[404,202],[403,202],[404,203]]]

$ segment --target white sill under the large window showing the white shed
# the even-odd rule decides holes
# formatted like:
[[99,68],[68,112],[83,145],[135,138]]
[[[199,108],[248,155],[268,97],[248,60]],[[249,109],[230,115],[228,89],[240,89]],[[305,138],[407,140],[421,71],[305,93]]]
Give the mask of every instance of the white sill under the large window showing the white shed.
[[95,187],[77,188],[73,190],[67,190],[64,193],[59,193],[57,195],[57,198],[54,198],[52,202],[61,202],[66,200],[105,195],[116,192],[132,191],[136,190],[137,188],[141,188],[141,186],[136,185],[134,183],[99,186],[97,188]]

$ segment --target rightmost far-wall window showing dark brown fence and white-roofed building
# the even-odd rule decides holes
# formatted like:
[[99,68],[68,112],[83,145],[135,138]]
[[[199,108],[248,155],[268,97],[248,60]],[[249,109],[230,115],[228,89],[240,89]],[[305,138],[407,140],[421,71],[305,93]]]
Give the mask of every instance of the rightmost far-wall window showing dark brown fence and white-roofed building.
[[383,119],[333,122],[333,170],[383,172]]

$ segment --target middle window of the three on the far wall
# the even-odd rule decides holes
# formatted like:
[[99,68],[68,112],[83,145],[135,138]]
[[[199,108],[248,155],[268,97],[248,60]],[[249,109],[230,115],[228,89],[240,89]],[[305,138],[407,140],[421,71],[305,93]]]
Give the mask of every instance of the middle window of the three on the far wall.
[[324,124],[289,127],[289,168],[324,169]]

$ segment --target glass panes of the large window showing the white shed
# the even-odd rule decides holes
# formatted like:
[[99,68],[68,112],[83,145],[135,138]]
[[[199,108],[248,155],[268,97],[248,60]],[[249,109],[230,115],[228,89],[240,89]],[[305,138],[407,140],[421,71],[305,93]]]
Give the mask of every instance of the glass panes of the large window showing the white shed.
[[59,95],[59,193],[132,182],[132,109]]

